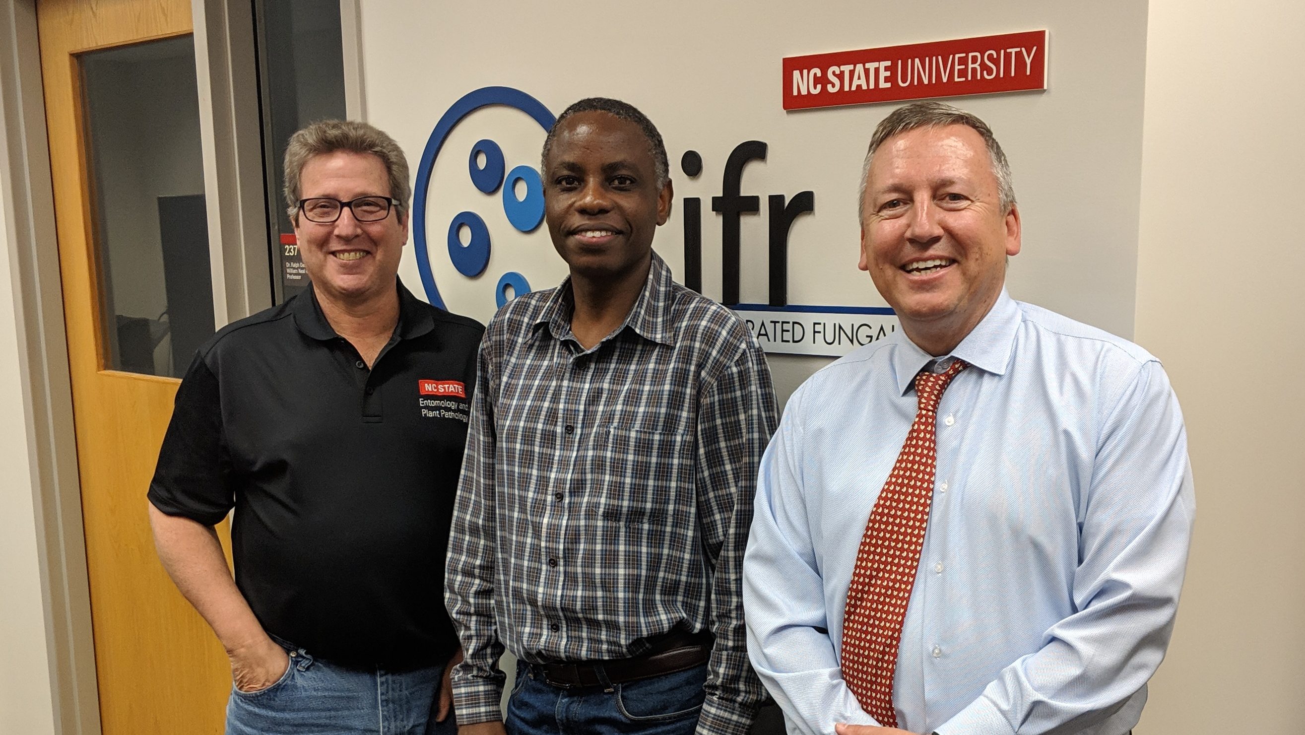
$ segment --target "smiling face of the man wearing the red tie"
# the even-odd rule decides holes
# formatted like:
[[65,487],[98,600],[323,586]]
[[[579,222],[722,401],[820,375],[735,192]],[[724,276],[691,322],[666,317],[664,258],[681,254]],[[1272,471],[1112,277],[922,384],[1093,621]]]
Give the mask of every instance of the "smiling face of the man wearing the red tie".
[[983,138],[966,125],[916,128],[874,151],[861,270],[912,342],[950,352],[1001,294],[1019,252],[1019,211],[1002,211]]

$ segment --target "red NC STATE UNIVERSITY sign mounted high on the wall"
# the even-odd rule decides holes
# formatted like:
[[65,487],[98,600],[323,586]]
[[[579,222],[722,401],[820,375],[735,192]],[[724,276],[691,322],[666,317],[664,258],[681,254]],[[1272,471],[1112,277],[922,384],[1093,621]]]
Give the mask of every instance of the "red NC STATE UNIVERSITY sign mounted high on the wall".
[[1047,89],[1047,31],[784,57],[784,110]]

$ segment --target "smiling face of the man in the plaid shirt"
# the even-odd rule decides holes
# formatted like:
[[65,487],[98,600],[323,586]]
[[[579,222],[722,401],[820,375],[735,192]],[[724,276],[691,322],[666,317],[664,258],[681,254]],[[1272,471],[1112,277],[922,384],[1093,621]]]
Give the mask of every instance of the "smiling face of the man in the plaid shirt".
[[544,162],[544,213],[573,277],[642,285],[652,235],[671,214],[671,183],[639,127],[607,112],[562,120]]

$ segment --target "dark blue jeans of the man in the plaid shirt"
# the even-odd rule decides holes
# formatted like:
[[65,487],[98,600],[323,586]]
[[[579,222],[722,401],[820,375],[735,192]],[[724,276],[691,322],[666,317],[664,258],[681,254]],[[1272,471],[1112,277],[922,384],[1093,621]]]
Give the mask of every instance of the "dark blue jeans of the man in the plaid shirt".
[[692,735],[706,679],[702,665],[625,684],[562,689],[522,661],[508,700],[508,735]]

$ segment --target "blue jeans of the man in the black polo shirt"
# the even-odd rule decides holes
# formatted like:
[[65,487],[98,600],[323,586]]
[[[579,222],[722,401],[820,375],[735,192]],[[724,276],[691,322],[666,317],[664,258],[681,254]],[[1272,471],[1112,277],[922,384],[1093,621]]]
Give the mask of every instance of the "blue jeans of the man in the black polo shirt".
[[303,649],[266,689],[231,687],[227,735],[455,735],[453,713],[438,714],[444,666],[395,674],[343,668]]

